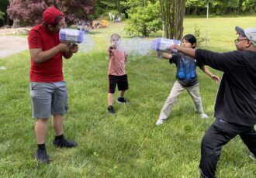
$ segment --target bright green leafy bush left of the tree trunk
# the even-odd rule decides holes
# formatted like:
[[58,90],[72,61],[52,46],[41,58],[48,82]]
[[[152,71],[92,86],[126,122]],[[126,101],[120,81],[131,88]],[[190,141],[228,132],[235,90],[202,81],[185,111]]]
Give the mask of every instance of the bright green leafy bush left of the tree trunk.
[[126,33],[133,36],[149,36],[151,32],[161,29],[159,2],[147,2],[146,6],[130,9],[129,20],[125,26]]

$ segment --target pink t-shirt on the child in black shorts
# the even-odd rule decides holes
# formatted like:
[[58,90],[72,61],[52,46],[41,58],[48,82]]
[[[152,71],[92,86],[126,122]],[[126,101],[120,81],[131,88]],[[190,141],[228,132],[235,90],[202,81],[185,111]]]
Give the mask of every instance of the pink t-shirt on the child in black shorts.
[[112,50],[112,53],[109,53],[109,75],[125,75],[126,60],[126,52],[120,50]]

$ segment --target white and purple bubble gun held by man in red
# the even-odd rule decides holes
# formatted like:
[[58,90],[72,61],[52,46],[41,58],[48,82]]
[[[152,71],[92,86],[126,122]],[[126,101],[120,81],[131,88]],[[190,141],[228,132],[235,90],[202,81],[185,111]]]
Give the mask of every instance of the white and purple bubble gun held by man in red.
[[65,43],[82,43],[84,32],[77,29],[61,29],[59,39]]

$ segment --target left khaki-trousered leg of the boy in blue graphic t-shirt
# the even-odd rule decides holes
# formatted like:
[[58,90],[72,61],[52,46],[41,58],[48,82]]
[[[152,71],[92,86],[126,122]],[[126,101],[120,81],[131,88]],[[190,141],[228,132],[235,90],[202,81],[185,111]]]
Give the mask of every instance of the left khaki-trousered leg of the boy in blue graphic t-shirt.
[[175,81],[175,84],[171,88],[171,92],[170,92],[168,98],[164,102],[164,106],[161,109],[161,113],[159,115],[158,120],[164,121],[168,118],[168,116],[171,113],[171,109],[173,108],[173,106],[175,104],[175,100],[178,98],[178,95],[181,94],[184,89],[185,88],[182,87],[182,85],[179,84],[178,81]]

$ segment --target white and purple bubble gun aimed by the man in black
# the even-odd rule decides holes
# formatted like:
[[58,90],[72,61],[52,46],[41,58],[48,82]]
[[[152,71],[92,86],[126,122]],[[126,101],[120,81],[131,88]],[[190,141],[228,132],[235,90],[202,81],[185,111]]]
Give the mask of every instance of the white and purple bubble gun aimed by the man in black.
[[[151,42],[151,49],[156,50],[158,53],[161,51],[170,51],[170,46],[174,44],[181,44],[181,41],[178,39],[165,39],[157,38]],[[178,50],[172,50],[172,53],[178,53]]]

